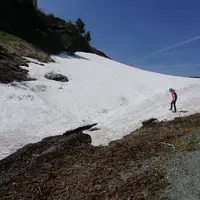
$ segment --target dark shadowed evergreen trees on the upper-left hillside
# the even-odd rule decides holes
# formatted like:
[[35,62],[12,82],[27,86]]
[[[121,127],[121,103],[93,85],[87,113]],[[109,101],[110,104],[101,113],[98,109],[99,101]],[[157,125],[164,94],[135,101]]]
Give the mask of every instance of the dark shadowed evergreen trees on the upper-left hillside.
[[37,0],[1,0],[0,30],[15,34],[48,53],[93,52],[91,34],[78,18],[75,23],[47,15]]

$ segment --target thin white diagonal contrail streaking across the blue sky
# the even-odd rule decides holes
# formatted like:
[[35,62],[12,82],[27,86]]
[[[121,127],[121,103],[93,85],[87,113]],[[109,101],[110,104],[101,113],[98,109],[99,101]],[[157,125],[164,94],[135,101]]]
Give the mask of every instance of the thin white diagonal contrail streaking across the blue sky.
[[150,58],[151,56],[155,56],[155,55],[160,54],[160,53],[163,53],[163,52],[165,52],[165,51],[175,49],[176,47],[181,47],[181,46],[183,46],[183,45],[185,45],[185,44],[189,44],[189,43],[194,42],[194,41],[199,40],[199,39],[200,39],[200,35],[198,35],[198,36],[196,36],[196,37],[193,37],[193,38],[190,38],[190,39],[188,39],[188,40],[185,40],[185,41],[183,41],[183,42],[174,44],[174,45],[172,45],[172,46],[169,46],[169,47],[160,49],[160,50],[158,50],[158,51],[154,51],[153,53],[150,53],[150,54],[148,54],[148,55],[146,55],[146,56],[144,56],[144,57],[142,57],[142,58],[140,58],[140,59],[138,59],[138,60],[135,60],[135,61],[132,62],[131,64],[137,63],[137,62],[139,62],[139,61],[143,61],[143,60],[145,60],[145,59],[147,59],[147,58]]

